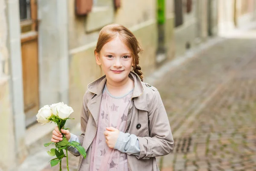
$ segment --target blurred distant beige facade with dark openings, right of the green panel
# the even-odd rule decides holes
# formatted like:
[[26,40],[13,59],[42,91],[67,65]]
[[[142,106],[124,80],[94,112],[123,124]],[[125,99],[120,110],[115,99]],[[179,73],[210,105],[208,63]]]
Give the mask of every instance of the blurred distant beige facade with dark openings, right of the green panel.
[[218,0],[175,0],[175,52],[182,55],[218,32]]

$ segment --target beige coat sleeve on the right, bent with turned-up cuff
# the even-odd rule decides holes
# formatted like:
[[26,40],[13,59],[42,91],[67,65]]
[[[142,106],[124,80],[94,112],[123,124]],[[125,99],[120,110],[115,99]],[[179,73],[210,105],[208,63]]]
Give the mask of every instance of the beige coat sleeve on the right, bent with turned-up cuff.
[[174,147],[169,119],[157,90],[154,91],[150,104],[148,110],[150,137],[138,137],[140,144],[140,156],[136,156],[138,159],[164,156]]

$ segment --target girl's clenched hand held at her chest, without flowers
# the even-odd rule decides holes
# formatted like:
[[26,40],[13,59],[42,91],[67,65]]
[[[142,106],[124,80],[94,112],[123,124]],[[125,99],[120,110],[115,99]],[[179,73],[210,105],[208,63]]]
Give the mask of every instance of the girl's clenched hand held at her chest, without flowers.
[[104,132],[106,143],[109,148],[114,148],[116,145],[117,138],[119,136],[119,130],[113,127],[106,128]]

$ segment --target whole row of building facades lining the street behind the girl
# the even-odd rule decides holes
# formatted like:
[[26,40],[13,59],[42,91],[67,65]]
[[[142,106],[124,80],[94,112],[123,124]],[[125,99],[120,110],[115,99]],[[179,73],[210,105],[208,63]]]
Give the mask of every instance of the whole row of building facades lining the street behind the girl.
[[0,0],[0,128],[8,147],[0,148],[0,171],[22,163],[55,127],[36,123],[42,106],[69,104],[75,120],[67,127],[79,125],[87,84],[100,76],[94,49],[103,26],[131,29],[144,49],[140,66],[147,76],[222,30],[250,23],[255,2]]

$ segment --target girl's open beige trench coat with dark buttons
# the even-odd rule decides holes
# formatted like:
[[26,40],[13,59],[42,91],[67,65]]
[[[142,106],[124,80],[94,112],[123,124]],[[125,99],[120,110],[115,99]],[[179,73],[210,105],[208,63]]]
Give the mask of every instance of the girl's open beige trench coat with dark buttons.
[[[134,91],[128,111],[126,133],[138,137],[140,157],[127,155],[128,168],[130,171],[159,171],[155,157],[169,154],[174,145],[166,110],[155,87],[140,81],[134,72],[131,72],[129,77],[134,80]],[[79,141],[87,152],[87,157],[84,159],[80,156],[79,171],[90,170],[91,147],[97,131],[105,83],[105,76],[93,81],[84,94],[81,113],[82,134]]]

